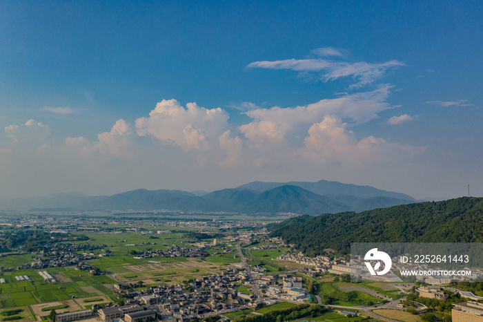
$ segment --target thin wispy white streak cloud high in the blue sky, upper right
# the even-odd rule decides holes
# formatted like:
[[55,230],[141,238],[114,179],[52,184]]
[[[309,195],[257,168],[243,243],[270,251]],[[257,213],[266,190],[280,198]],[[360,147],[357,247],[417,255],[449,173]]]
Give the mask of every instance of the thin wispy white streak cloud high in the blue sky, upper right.
[[358,88],[372,84],[375,79],[384,76],[387,70],[406,66],[401,61],[390,60],[382,63],[368,63],[366,61],[348,62],[326,59],[320,56],[342,57],[337,48],[319,48],[316,50],[319,57],[308,59],[284,59],[277,61],[254,61],[248,68],[288,69],[300,73],[318,73],[324,82],[341,77],[352,77],[357,82],[351,88]]

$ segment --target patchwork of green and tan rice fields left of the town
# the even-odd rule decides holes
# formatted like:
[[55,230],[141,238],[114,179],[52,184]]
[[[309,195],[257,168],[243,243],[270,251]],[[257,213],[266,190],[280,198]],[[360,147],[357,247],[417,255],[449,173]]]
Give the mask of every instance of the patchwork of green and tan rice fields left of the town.
[[[103,249],[96,249],[94,253],[107,250],[110,254],[110,256],[97,257],[89,263],[124,283],[139,281],[143,281],[144,285],[182,283],[186,279],[213,274],[230,263],[240,262],[239,258],[235,258],[235,254],[237,254],[235,252],[210,254],[203,259],[184,257],[137,259],[134,258],[134,255],[129,254],[133,250],[136,252],[144,252],[149,249],[165,250],[174,245],[193,247],[190,245],[192,240],[188,240],[181,233],[143,235],[122,231],[85,234],[89,240],[76,243],[106,245]],[[0,256],[0,267],[15,269],[31,263],[33,257],[32,254]],[[55,267],[42,270],[46,270],[54,276],[57,283],[43,281],[38,270],[21,269],[16,272],[4,272],[1,278],[5,278],[6,283],[0,284],[0,309],[104,295],[112,301],[115,300],[112,284],[117,281],[106,275],[94,276],[90,272],[80,271],[77,267]],[[17,281],[15,278],[15,276],[25,275],[29,277],[29,281]]]

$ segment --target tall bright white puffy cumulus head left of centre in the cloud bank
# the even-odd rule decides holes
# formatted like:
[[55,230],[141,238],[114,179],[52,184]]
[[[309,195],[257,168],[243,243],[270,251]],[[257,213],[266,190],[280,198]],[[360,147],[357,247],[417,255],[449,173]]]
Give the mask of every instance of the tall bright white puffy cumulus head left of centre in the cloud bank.
[[163,100],[149,113],[136,120],[137,134],[152,135],[168,144],[206,151],[226,131],[228,113],[221,108],[207,109],[196,103],[181,106],[177,100]]

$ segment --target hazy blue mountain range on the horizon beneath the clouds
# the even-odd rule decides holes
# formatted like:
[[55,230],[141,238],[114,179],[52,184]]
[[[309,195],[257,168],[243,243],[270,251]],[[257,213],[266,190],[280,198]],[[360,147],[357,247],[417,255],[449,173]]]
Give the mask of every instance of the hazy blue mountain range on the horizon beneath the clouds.
[[36,211],[193,211],[245,214],[319,215],[364,211],[415,202],[404,193],[340,182],[250,182],[234,189],[203,191],[137,189],[112,196],[56,193],[46,197],[0,200],[0,209]]

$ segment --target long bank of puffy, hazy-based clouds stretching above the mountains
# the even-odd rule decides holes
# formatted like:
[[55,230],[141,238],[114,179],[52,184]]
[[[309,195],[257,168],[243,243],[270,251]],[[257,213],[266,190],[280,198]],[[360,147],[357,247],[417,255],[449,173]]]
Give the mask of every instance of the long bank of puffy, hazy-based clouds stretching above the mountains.
[[240,126],[228,124],[221,108],[164,100],[135,124],[120,119],[97,139],[68,137],[63,144],[48,138],[48,125],[29,120],[6,126],[14,141],[0,149],[0,160],[8,164],[3,169],[14,171],[3,170],[2,178],[26,176],[24,169],[30,169],[38,182],[50,180],[49,192],[59,191],[61,182],[67,191],[79,185],[93,194],[193,184],[219,189],[251,180],[342,180],[348,171],[368,173],[377,162],[403,164],[422,151],[373,136],[357,139],[359,124],[393,107],[386,102],[390,90],[380,86],[295,107],[250,104],[244,114],[251,120]]

